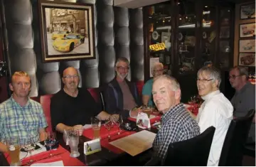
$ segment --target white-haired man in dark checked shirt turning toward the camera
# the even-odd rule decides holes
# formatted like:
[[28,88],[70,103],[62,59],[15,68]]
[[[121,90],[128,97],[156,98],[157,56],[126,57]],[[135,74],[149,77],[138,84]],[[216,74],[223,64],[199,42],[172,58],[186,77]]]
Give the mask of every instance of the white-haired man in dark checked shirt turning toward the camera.
[[181,100],[180,85],[174,77],[160,75],[152,87],[154,103],[164,115],[161,129],[153,142],[154,156],[164,158],[170,143],[191,139],[200,134],[198,123],[186,111]]

